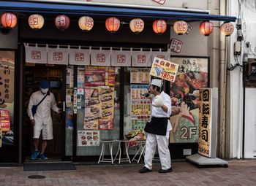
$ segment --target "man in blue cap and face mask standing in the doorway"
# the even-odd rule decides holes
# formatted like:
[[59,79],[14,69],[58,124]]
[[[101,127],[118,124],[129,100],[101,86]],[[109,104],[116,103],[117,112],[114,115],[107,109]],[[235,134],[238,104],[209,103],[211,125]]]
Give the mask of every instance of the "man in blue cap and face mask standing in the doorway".
[[[53,121],[50,116],[50,109],[53,111],[60,113],[61,109],[59,109],[56,105],[55,98],[53,93],[49,91],[49,82],[46,80],[41,80],[39,82],[39,88],[37,92],[32,93],[29,99],[29,106],[27,109],[29,118],[31,120],[31,125],[34,127],[34,152],[31,154],[31,160],[37,160],[37,158],[41,160],[47,160],[47,156],[45,155],[45,149],[47,147],[48,140],[53,139]],[[39,102],[42,101],[40,104]],[[37,105],[37,112],[32,114],[32,106]],[[39,136],[42,131],[42,147],[41,151],[38,149],[39,144]]]

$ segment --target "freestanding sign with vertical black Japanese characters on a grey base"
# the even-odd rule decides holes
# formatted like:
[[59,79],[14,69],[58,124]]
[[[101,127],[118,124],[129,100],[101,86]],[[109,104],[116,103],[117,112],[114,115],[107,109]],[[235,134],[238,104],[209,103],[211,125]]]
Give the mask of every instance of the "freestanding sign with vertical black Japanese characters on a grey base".
[[200,89],[200,133],[198,153],[187,156],[187,160],[200,166],[224,166],[228,162],[216,157],[218,89]]

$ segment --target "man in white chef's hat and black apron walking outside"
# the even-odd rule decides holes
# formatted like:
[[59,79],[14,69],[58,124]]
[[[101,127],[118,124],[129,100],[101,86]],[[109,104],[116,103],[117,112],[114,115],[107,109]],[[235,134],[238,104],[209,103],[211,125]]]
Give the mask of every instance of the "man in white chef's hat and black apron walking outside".
[[152,171],[152,160],[156,147],[161,161],[162,168],[159,173],[173,171],[171,167],[169,145],[171,101],[170,96],[161,91],[162,80],[153,79],[149,87],[150,98],[152,99],[151,121],[146,124],[144,131],[147,133],[145,159],[140,173]]

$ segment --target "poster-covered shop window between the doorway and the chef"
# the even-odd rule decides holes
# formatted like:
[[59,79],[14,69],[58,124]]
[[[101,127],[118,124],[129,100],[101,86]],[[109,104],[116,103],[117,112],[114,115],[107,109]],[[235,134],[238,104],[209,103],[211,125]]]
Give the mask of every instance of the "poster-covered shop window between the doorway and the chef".
[[98,156],[99,139],[119,138],[120,75],[118,67],[78,68],[77,156]]

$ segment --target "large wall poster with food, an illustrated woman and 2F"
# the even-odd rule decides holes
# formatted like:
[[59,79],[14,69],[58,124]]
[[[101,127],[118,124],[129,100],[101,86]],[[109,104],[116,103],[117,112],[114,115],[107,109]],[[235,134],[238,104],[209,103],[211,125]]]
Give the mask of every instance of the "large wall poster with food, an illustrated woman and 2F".
[[199,90],[208,87],[208,58],[175,57],[170,61],[179,65],[175,82],[170,82],[170,142],[198,142]]

